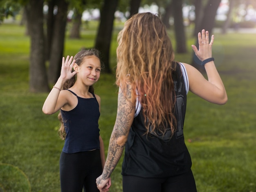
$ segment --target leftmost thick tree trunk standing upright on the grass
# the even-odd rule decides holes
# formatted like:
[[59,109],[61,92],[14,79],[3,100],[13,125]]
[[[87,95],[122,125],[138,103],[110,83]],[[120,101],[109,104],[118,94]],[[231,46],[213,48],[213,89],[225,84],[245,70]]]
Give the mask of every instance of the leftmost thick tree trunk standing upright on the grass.
[[48,92],[49,87],[47,83],[44,54],[43,0],[29,0],[25,10],[31,38],[29,91]]

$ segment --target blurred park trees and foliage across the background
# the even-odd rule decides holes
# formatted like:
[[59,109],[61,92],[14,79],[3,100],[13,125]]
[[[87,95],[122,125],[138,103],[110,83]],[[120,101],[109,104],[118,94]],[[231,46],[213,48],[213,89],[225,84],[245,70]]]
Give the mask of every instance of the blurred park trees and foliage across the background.
[[15,20],[16,15],[22,13],[20,25],[27,25],[27,35],[31,38],[31,92],[48,92],[49,84],[56,82],[67,22],[72,23],[70,38],[80,38],[83,22],[99,20],[94,47],[102,53],[106,73],[113,72],[109,56],[115,19],[124,21],[147,9],[159,14],[166,27],[175,31],[177,53],[187,52],[185,29],[188,25],[193,25],[196,36],[201,29],[211,33],[213,27],[218,26],[226,33],[229,27],[254,27],[256,23],[255,0],[1,0],[0,7],[2,22],[10,16]]

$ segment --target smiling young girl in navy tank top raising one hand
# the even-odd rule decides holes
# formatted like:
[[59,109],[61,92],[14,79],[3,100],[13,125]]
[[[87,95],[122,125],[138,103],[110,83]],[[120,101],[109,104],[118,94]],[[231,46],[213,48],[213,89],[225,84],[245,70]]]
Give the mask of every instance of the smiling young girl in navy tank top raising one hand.
[[[73,70],[72,70],[73,69]],[[96,178],[105,164],[99,135],[100,97],[92,85],[99,80],[101,61],[97,49],[63,57],[61,76],[43,105],[45,114],[60,110],[59,134],[65,139],[60,157],[61,192],[98,192]],[[62,90],[63,87],[63,90]]]

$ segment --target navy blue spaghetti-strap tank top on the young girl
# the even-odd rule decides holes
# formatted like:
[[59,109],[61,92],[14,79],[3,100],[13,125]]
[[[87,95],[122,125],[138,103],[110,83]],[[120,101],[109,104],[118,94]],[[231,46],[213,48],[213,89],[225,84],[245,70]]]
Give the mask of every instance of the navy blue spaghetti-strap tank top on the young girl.
[[70,111],[61,109],[67,134],[62,151],[76,153],[99,149],[99,103],[94,94],[93,98],[81,98],[74,92],[72,94],[78,99],[76,107]]

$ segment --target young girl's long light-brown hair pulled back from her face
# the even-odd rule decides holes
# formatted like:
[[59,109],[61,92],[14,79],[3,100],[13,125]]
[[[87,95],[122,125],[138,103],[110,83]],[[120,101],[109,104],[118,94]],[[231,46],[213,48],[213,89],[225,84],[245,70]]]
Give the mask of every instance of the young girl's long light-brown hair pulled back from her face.
[[[80,66],[83,63],[84,58],[86,56],[96,56],[101,61],[99,50],[94,49],[94,48],[92,48],[92,49],[82,49],[81,51],[79,51],[74,56],[74,60],[76,60],[76,64],[78,66]],[[103,65],[104,64],[101,62],[101,69],[103,69]],[[74,69],[72,69],[72,72],[73,71],[74,71]],[[76,82],[76,75],[74,75],[70,80],[67,80],[65,82],[65,84],[63,85],[62,89],[69,89],[70,87],[72,87],[75,84],[75,82]],[[94,93],[94,87],[93,86],[89,87],[89,92]],[[64,126],[63,118],[61,116],[61,112],[59,112],[59,114],[58,114],[58,119],[60,121],[60,128],[58,129],[58,134],[61,137],[61,139],[64,140],[66,138],[66,132],[65,132],[65,126]]]

